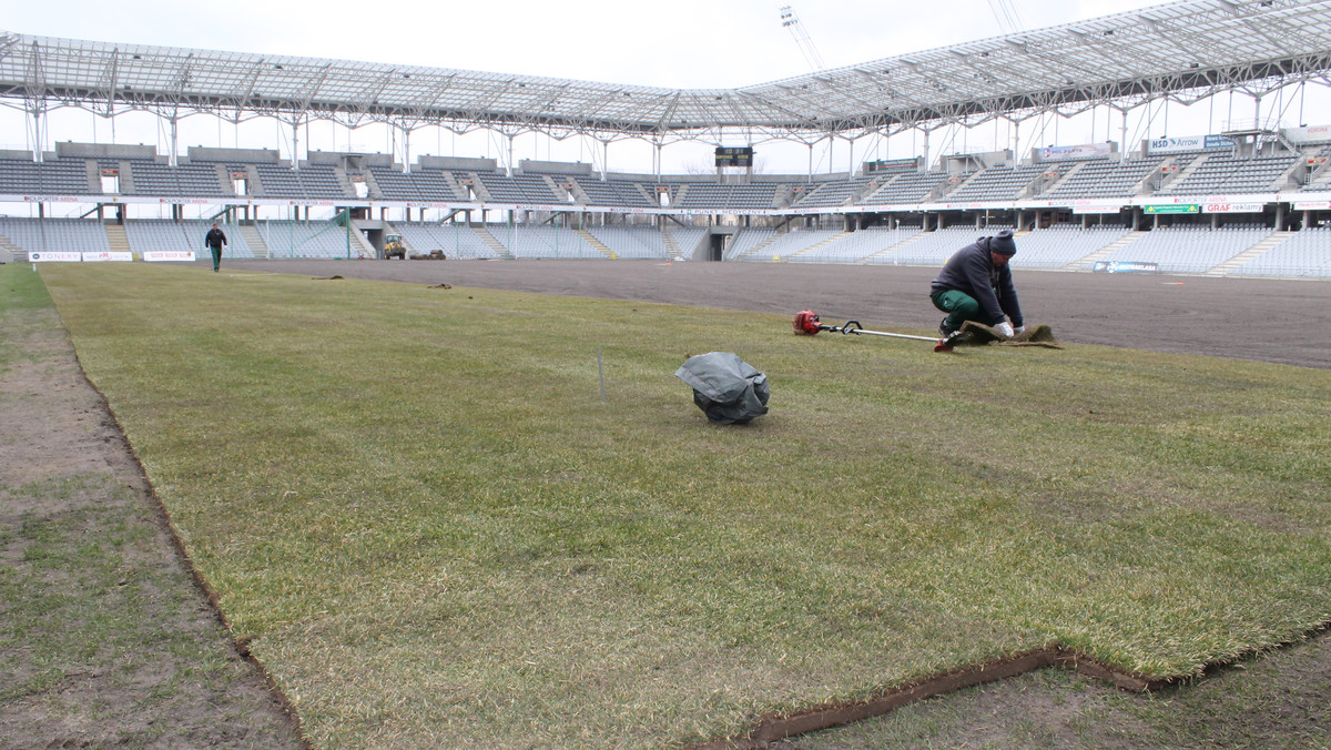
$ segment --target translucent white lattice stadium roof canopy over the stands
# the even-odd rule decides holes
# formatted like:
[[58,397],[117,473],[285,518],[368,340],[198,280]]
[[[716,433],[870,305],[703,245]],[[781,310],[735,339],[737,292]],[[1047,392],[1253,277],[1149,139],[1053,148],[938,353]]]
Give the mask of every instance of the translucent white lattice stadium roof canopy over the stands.
[[515,76],[0,32],[0,100],[40,113],[373,121],[676,140],[976,124],[1222,91],[1327,84],[1331,0],[1195,0],[733,89]]

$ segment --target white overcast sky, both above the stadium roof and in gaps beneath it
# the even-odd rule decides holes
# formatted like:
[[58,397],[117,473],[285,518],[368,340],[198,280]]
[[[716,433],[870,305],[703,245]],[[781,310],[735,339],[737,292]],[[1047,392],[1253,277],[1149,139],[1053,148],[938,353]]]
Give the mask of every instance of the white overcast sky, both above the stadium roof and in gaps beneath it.
[[[273,0],[146,0],[108,3],[65,0],[36,3],[0,0],[0,28],[35,36],[59,36],[108,43],[190,47],[266,55],[291,55],[414,64],[441,68],[506,72],[667,88],[735,88],[805,75],[812,71],[807,52],[791,28],[783,27],[783,0],[383,0],[379,3],[329,0],[284,3]],[[1143,0],[791,0],[799,29],[828,68],[853,65],[921,49],[945,47],[1014,31],[1033,31],[1081,21],[1158,3]],[[1001,17],[1001,19],[1000,19]],[[1268,103],[1274,104],[1274,103]],[[1171,136],[1199,135],[1215,125],[1215,116],[1194,107],[1170,111]],[[1221,105],[1223,107],[1223,104]],[[1252,105],[1244,115],[1251,115]],[[1235,108],[1238,112],[1238,108]],[[1107,111],[1106,111],[1107,115]],[[1189,115],[1197,124],[1187,123]],[[165,153],[168,139],[160,124],[144,115],[120,116],[117,131],[87,113],[61,113],[51,120],[47,148],[59,140],[152,143]],[[25,148],[23,116],[0,112],[0,148]],[[83,117],[77,120],[76,117]],[[137,117],[137,120],[136,120]],[[1022,149],[1089,140],[1119,140],[1119,123],[1106,116],[1086,123],[1050,117],[1022,127]],[[1125,140],[1149,137],[1161,119],[1134,124]],[[1326,123],[1328,119],[1316,119]],[[73,132],[68,127],[73,123]],[[1075,125],[1075,127],[1074,127]],[[1012,145],[1005,123],[974,132],[938,135],[933,155],[1000,149]],[[1059,131],[1062,128],[1062,131]],[[96,131],[96,132],[93,132]],[[1155,136],[1161,133],[1157,132]],[[285,140],[282,140],[285,139]],[[297,152],[395,152],[401,144],[386,128],[349,131],[314,123]],[[488,139],[488,140],[487,140]],[[526,139],[526,137],[524,137]],[[530,143],[527,143],[530,140]],[[592,144],[540,143],[535,136],[515,148],[514,160],[552,159],[594,163]],[[281,144],[278,143],[281,141]],[[945,143],[940,143],[945,141]],[[29,141],[31,143],[31,141]],[[213,117],[193,117],[182,125],[181,149],[189,145],[266,147],[291,149],[291,140],[274,124],[225,128]],[[744,144],[728,144],[744,145]],[[760,171],[799,173],[847,171],[864,159],[914,156],[916,135],[861,139],[851,153],[845,143],[809,151],[800,144],[764,144]],[[29,147],[31,148],[31,147]],[[411,159],[421,153],[500,157],[504,145],[492,136],[457,137],[429,128],[413,136]],[[711,144],[681,144],[666,151],[664,172],[707,168]],[[398,153],[401,153],[398,151]],[[1025,156],[1022,153],[1021,156]],[[616,144],[602,157],[612,171],[651,172],[651,149],[636,143]],[[764,164],[764,161],[771,160]]]

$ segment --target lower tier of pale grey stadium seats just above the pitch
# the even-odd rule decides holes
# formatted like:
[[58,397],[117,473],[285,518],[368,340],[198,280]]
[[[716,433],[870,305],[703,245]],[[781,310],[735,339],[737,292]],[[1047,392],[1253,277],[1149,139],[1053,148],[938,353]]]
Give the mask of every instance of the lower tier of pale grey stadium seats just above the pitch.
[[[134,220],[125,236],[136,253],[145,250],[202,252],[206,222]],[[566,226],[394,222],[387,230],[402,234],[417,254],[442,250],[454,258],[672,258],[692,257],[704,245],[705,228],[662,230],[654,226]],[[725,250],[735,261],[855,262],[938,265],[957,248],[993,234],[1002,226],[954,226],[924,232],[920,226],[870,228],[857,232],[771,228],[736,230]],[[1010,229],[1010,228],[1009,228]],[[250,248],[241,226],[224,226],[228,257],[358,256],[346,232],[326,221],[264,221],[256,230],[266,245]],[[25,252],[106,250],[105,225],[93,220],[0,217],[0,240]],[[1262,242],[1271,246],[1256,252]],[[600,245],[596,246],[596,245]],[[1260,225],[1219,229],[1167,226],[1130,233],[1122,226],[1054,226],[1017,234],[1013,268],[1091,270],[1097,261],[1138,261],[1158,265],[1162,273],[1207,273],[1233,264],[1235,276],[1331,277],[1331,226],[1302,232],[1274,232]],[[606,250],[608,250],[608,253]],[[1254,253],[1252,257],[1244,257]],[[1239,262],[1242,261],[1242,262]]]

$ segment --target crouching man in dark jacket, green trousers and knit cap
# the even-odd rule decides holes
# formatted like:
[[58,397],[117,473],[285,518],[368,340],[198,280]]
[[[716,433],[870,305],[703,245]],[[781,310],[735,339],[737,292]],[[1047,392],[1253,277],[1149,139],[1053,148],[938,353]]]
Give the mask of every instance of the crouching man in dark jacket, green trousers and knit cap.
[[1026,329],[1008,268],[1016,253],[1017,244],[1005,229],[980,237],[948,258],[929,292],[933,306],[948,313],[938,336],[952,336],[968,320],[993,326],[1008,338]]

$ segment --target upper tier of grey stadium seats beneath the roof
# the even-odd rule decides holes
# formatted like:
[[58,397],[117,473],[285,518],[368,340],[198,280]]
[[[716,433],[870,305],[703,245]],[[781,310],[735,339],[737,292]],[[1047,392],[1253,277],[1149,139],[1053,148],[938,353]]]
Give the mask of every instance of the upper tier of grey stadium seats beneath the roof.
[[[1291,188],[1328,189],[1331,169],[1300,169],[1324,149],[1300,155],[1235,159],[1229,155],[1181,155],[1163,159],[1090,160],[1067,164],[993,167],[961,175],[917,172],[913,160],[893,171],[852,179],[781,181],[759,179],[732,185],[680,179],[643,180],[567,175],[499,175],[417,168],[410,173],[369,167],[369,197],[551,204],[575,202],[656,208],[658,188],[671,205],[692,210],[769,210],[840,205],[913,205],[926,201],[1013,201],[1022,197],[1094,198],[1270,193]],[[256,197],[355,198],[351,176],[329,164],[291,169],[284,164],[196,161],[176,167],[148,160],[63,157],[43,163],[0,159],[0,194],[101,194],[98,171],[114,171],[117,192],[140,196],[233,196],[230,175],[241,171]],[[361,175],[363,177],[363,175]],[[1308,181],[1308,177],[1312,177]]]

